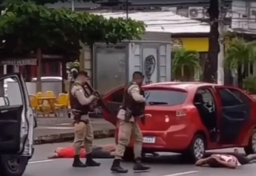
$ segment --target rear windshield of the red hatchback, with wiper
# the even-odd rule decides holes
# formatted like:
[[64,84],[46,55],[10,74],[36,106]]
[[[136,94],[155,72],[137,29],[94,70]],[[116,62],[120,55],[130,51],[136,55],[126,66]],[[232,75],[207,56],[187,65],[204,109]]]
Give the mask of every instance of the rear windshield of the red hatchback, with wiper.
[[172,90],[146,90],[145,98],[147,105],[181,105],[187,98],[187,92]]

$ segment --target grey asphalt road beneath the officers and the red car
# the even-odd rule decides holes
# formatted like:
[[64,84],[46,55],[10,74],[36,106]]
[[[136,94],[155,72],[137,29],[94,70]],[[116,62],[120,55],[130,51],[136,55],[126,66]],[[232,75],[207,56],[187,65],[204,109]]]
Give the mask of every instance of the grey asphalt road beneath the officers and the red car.
[[[114,142],[113,138],[98,139],[94,144],[102,145]],[[98,176],[113,176],[120,175],[117,173],[109,172],[112,164],[112,159],[97,159],[101,162],[100,167],[87,167],[87,168],[72,168],[72,159],[51,159],[48,160],[47,156],[53,152],[57,147],[70,146],[71,143],[56,143],[56,144],[43,144],[37,145],[35,149],[35,155],[30,160],[27,170],[24,176],[84,176],[84,175],[98,175]],[[219,150],[219,151],[232,151],[233,149]],[[240,150],[241,152],[243,150]],[[240,166],[236,169],[226,168],[208,168],[208,167],[196,167],[194,165],[186,164],[177,154],[161,153],[160,158],[148,158],[146,160],[147,165],[151,166],[151,172],[133,173],[132,163],[122,163],[122,166],[130,169],[127,174],[121,174],[124,176],[251,176],[255,175],[256,164],[248,164]]]

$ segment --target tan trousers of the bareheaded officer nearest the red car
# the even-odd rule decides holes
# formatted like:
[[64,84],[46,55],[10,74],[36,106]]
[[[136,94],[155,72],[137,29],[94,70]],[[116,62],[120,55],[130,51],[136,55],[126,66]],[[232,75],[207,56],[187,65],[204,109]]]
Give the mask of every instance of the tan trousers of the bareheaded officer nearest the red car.
[[139,125],[136,122],[125,122],[120,120],[118,143],[116,146],[116,159],[123,158],[125,148],[129,144],[131,137],[135,137],[133,146],[134,158],[141,157],[143,136]]

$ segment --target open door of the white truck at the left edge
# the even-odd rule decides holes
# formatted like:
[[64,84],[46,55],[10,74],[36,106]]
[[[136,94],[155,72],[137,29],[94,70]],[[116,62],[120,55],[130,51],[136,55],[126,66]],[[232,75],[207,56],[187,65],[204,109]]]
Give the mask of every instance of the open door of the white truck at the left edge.
[[[12,80],[12,84],[3,91],[3,84],[8,85],[7,80]],[[35,123],[21,74],[0,77],[0,153],[31,156]]]

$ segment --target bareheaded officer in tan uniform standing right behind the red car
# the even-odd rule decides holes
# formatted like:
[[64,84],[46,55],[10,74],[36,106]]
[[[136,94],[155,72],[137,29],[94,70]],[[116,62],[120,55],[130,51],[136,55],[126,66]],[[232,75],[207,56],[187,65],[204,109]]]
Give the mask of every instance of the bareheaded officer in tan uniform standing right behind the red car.
[[140,127],[136,122],[141,115],[141,105],[142,107],[145,106],[145,98],[140,91],[140,86],[143,83],[144,76],[141,72],[136,71],[133,73],[132,78],[132,83],[128,85],[124,91],[123,104],[117,114],[117,118],[120,121],[120,126],[118,131],[116,156],[110,169],[112,172],[128,172],[127,169],[120,166],[120,161],[124,156],[125,148],[129,144],[131,136],[135,137],[133,152],[136,163],[133,170],[138,172],[147,171],[150,169],[150,167],[141,164],[143,136],[140,131]]

